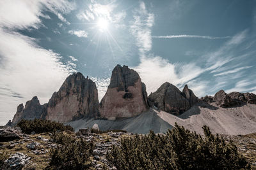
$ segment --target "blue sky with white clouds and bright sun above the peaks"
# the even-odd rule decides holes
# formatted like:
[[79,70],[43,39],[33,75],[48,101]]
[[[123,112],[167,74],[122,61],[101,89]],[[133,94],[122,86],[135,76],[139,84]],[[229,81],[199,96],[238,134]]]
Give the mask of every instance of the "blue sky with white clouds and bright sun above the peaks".
[[148,94],[166,81],[198,97],[256,94],[255,47],[253,0],[1,0],[0,125],[77,71],[100,100],[116,64],[138,71]]

